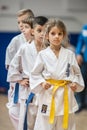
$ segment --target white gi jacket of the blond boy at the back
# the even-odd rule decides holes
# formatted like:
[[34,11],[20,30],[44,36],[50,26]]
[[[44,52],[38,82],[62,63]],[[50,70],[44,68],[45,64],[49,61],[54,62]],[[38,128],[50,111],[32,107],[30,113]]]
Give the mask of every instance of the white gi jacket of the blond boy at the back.
[[[17,53],[20,46],[25,43],[26,43],[26,39],[23,33],[12,38],[11,42],[8,44],[6,49],[6,57],[5,57],[6,68],[7,65],[10,65],[10,62],[12,61],[13,57]],[[8,103],[7,103],[8,108],[13,104],[14,88],[15,88],[15,83],[10,82],[9,90],[8,90]]]

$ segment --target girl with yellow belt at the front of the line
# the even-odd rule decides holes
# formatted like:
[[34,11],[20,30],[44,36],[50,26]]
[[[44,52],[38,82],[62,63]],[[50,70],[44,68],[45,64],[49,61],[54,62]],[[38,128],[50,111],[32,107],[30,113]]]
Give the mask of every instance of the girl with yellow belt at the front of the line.
[[32,91],[39,93],[34,130],[76,130],[74,92],[84,89],[80,68],[74,53],[62,46],[67,39],[62,21],[49,20],[45,34],[50,46],[38,54],[30,76]]

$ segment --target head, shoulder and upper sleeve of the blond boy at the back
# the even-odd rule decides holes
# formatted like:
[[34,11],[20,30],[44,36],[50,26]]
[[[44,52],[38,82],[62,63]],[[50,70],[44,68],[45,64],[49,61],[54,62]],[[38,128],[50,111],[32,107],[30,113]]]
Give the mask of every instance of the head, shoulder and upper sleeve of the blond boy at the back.
[[11,42],[7,46],[5,59],[6,69],[9,68],[9,64],[16,52],[18,51],[19,47],[27,41],[27,38],[23,34],[23,21],[28,17],[34,17],[34,14],[30,9],[22,9],[17,13],[18,28],[21,33],[13,37]]

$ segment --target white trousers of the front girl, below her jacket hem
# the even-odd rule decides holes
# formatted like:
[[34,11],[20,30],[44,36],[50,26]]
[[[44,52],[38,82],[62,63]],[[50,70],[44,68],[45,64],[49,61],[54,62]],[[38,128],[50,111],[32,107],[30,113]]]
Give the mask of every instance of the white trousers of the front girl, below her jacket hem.
[[[34,130],[64,130],[62,127],[63,116],[56,116],[54,123],[48,123],[49,117],[37,114]],[[67,130],[76,130],[74,114],[69,115],[69,124]]]

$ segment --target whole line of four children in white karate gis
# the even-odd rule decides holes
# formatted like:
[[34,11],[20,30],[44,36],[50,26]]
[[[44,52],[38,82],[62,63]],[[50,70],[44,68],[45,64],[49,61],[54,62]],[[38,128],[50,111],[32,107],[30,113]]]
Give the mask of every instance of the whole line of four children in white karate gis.
[[6,50],[7,107],[15,130],[76,130],[74,92],[84,82],[74,52],[62,46],[65,24],[23,9],[18,25],[21,34]]

